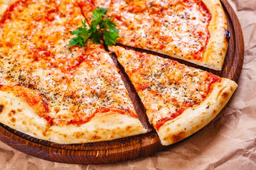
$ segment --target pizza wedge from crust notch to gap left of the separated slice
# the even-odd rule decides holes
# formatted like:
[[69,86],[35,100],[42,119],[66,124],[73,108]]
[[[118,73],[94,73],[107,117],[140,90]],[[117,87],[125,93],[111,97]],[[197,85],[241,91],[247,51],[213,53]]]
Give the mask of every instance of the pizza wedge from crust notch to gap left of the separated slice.
[[110,55],[86,43],[86,56],[55,108],[46,136],[61,144],[86,143],[146,132]]

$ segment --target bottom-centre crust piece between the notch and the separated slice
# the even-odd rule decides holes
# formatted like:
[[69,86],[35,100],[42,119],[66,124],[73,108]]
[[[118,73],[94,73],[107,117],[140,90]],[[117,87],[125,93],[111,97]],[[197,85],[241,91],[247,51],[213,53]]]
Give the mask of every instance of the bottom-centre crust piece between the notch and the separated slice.
[[59,144],[100,142],[146,133],[137,118],[109,112],[82,125],[53,125],[48,140]]

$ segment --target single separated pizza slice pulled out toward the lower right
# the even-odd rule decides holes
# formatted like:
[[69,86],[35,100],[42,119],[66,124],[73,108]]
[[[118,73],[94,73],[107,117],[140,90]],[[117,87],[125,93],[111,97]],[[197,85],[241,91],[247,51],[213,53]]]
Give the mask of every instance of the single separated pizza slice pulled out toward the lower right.
[[237,84],[176,61],[112,46],[162,145],[183,140],[207,125],[229,101]]

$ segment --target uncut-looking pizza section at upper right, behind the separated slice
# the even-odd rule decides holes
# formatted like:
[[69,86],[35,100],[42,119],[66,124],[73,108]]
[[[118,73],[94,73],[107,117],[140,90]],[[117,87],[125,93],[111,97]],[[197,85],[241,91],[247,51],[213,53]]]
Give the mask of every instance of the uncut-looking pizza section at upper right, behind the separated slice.
[[89,22],[94,8],[109,8],[107,16],[112,16],[117,25],[117,42],[122,45],[222,69],[228,49],[228,27],[219,0],[97,0],[84,5]]

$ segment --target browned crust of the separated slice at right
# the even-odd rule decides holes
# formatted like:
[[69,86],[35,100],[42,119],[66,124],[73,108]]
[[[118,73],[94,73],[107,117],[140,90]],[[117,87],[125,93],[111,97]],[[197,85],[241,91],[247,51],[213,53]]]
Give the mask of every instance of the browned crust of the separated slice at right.
[[235,81],[224,78],[221,83],[214,84],[213,91],[203,103],[188,108],[177,118],[167,121],[159,128],[161,144],[171,145],[183,140],[210,123],[228,103],[237,86]]

